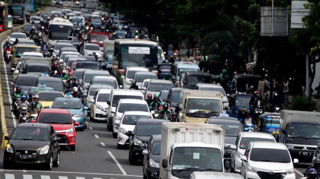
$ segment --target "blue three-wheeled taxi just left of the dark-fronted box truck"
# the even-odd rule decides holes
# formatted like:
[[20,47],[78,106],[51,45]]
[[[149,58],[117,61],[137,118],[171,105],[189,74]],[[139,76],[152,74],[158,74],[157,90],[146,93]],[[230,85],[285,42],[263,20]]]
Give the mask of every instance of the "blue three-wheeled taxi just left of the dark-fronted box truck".
[[263,133],[272,134],[278,140],[280,129],[280,113],[263,113],[257,121],[258,130]]

